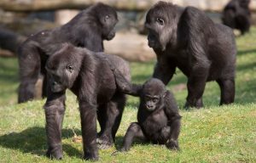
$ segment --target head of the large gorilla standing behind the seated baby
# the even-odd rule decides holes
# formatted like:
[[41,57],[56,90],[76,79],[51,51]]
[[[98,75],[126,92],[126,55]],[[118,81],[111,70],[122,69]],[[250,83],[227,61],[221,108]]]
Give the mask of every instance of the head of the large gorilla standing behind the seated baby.
[[164,51],[168,42],[175,43],[177,37],[177,6],[159,2],[149,9],[145,28],[148,30],[148,46]]

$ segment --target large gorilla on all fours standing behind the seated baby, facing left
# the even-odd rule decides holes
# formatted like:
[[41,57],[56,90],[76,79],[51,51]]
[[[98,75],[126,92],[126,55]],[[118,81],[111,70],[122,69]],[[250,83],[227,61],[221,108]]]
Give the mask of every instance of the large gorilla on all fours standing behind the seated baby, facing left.
[[201,108],[206,82],[216,81],[220,104],[235,98],[236,42],[233,31],[215,24],[197,8],[159,2],[146,16],[148,46],[157,63],[153,77],[167,84],[176,68],[188,77],[185,107]]

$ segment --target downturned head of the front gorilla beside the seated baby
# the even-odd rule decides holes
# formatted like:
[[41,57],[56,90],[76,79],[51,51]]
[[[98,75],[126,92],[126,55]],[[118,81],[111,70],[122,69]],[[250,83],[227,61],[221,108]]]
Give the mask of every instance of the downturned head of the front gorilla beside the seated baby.
[[73,87],[73,82],[79,75],[81,66],[79,54],[74,53],[68,44],[65,44],[64,47],[61,51],[51,55],[45,66],[53,93],[62,92]]

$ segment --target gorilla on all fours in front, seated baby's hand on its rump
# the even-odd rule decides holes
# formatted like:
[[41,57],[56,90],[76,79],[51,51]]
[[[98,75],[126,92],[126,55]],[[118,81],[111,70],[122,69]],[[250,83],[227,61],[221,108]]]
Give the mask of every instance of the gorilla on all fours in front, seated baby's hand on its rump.
[[[98,160],[96,143],[113,144],[125,106],[125,94],[116,89],[113,71],[106,60],[130,81],[129,65],[113,55],[66,44],[49,57],[46,64],[49,93],[44,105],[49,157],[62,158],[61,125],[67,88],[79,101],[84,159]],[[97,142],[96,118],[101,126]]]

